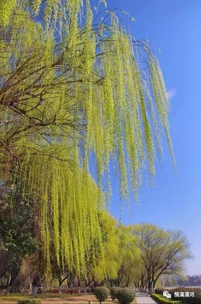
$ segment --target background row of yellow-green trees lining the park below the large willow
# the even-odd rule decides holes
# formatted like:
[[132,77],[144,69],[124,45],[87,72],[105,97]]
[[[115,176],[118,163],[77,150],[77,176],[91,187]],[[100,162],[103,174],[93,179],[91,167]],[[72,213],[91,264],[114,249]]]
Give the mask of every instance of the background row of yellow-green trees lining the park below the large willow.
[[99,220],[104,235],[105,255],[104,258],[97,256],[96,263],[93,259],[88,260],[85,274],[77,275],[75,270],[69,270],[67,264],[59,268],[53,250],[50,284],[45,268],[38,268],[38,256],[29,253],[29,257],[21,256],[20,259],[18,253],[13,253],[2,280],[7,294],[11,288],[12,291],[16,287],[18,290],[29,289],[30,283],[34,290],[39,285],[46,285],[47,288],[51,285],[56,287],[58,293],[66,288],[66,284],[68,288],[77,287],[79,292],[81,287],[87,292],[88,287],[99,285],[134,286],[141,291],[145,291],[148,286],[151,291],[158,279],[165,275],[185,278],[184,262],[190,257],[190,251],[188,242],[180,231],[164,231],[147,223],[119,225],[106,211],[99,213]]

